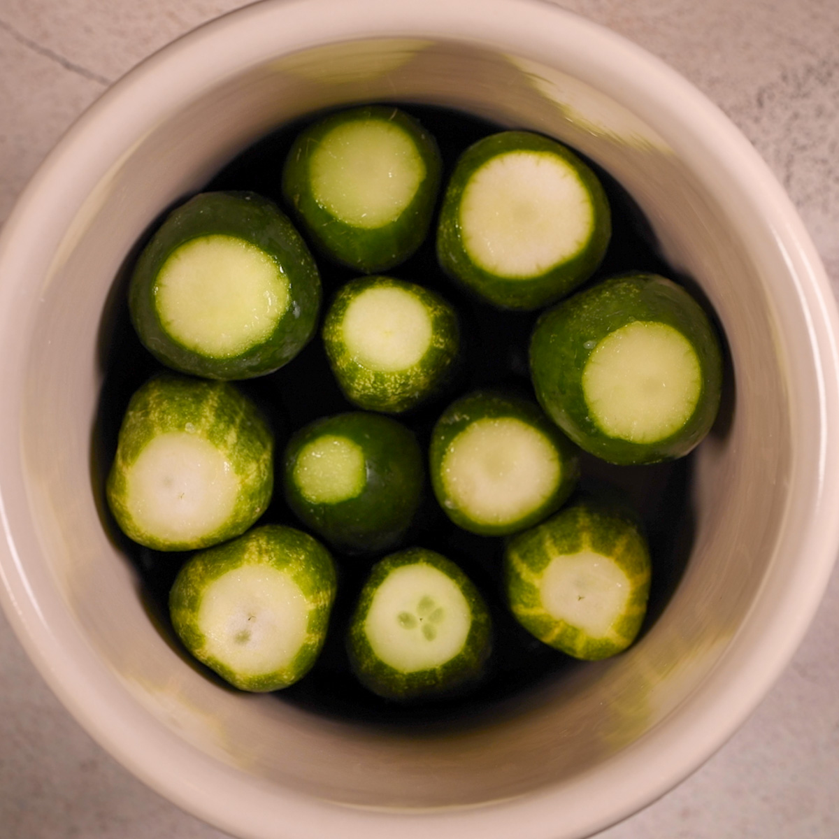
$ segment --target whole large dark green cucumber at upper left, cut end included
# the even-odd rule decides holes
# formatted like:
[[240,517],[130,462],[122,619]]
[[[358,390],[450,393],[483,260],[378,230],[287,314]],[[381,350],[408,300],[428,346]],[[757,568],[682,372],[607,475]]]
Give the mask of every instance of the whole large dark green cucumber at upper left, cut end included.
[[203,378],[262,376],[315,333],[320,275],[300,233],[253,192],[206,192],[173,211],[128,289],[143,345]]

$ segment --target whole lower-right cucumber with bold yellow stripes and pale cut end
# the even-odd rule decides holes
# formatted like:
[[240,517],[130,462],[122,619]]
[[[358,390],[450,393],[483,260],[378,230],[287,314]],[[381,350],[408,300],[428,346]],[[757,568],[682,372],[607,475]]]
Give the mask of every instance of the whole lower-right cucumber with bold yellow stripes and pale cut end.
[[649,547],[620,508],[572,504],[508,540],[508,603],[529,633],[576,659],[605,659],[637,637],[649,597]]

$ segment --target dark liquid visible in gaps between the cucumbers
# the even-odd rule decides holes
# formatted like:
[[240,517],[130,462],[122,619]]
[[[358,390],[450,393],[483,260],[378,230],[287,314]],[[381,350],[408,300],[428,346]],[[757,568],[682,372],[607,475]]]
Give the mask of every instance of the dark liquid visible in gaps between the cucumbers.
[[[417,117],[437,139],[444,163],[444,185],[457,157],[469,145],[502,130],[498,125],[462,112],[414,105],[399,107]],[[315,116],[320,117],[320,114]],[[283,206],[280,180],[284,159],[294,137],[310,119],[290,123],[255,143],[222,169],[206,185],[206,191],[253,190]],[[612,240],[602,266],[589,283],[628,271],[654,272],[672,278],[673,273],[657,253],[649,225],[631,197],[597,165],[587,162],[600,176],[612,207]],[[434,289],[456,307],[461,317],[464,352],[456,390],[409,414],[397,416],[400,422],[414,430],[424,451],[428,449],[430,431],[437,417],[462,393],[477,388],[503,388],[534,399],[529,380],[528,347],[530,332],[539,314],[496,310],[461,292],[440,272],[434,239],[432,227],[420,250],[406,263],[387,272]],[[143,243],[138,242],[137,252]],[[130,274],[133,257],[128,259],[123,274]],[[336,289],[357,274],[320,258],[318,265],[325,311]],[[109,336],[102,347],[106,380],[94,457],[94,477],[100,487],[104,482],[104,470],[116,450],[117,430],[128,399],[151,373],[159,369],[158,362],[139,344],[130,326],[124,289],[123,277],[117,283],[111,310],[106,313],[106,317],[112,318],[111,328],[103,330],[103,334]],[[278,477],[284,444],[295,430],[321,416],[356,409],[344,399],[332,377],[320,336],[315,336],[298,357],[276,373],[237,384],[260,404],[274,424]],[[653,586],[645,629],[654,622],[675,589],[690,551],[690,464],[690,456],[674,463],[637,467],[609,466],[590,456],[582,459],[582,492],[617,490],[644,519],[653,558]],[[276,694],[279,701],[305,706],[326,716],[370,724],[410,726],[420,722],[465,722],[476,715],[492,714],[494,709],[508,707],[509,703],[526,696],[539,685],[562,679],[569,670],[587,666],[537,641],[508,612],[501,577],[503,539],[477,536],[456,528],[436,504],[430,486],[427,485],[426,490],[420,515],[405,544],[399,547],[420,545],[439,551],[460,565],[482,591],[494,621],[494,646],[486,678],[466,696],[422,705],[394,704],[364,689],[349,670],[345,638],[358,591],[379,557],[344,556],[333,551],[339,586],[326,646],[315,667],[302,680]],[[107,519],[107,514],[103,517]],[[301,526],[284,503],[279,481],[271,506],[260,520],[260,524],[267,523]],[[181,649],[169,624],[169,587],[186,556],[159,554],[141,548],[118,534],[116,525],[110,520],[107,524],[113,539],[138,569],[149,615],[160,632],[191,666],[216,679]]]

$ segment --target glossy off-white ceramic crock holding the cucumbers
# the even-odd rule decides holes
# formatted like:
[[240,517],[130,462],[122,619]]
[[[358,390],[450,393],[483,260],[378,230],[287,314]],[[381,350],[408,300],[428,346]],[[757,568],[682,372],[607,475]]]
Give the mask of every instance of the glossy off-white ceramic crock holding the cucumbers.
[[[223,690],[143,607],[93,440],[127,254],[164,207],[304,112],[387,100],[550,133],[630,191],[727,335],[690,560],[654,628],[454,730]],[[743,722],[839,544],[836,314],[779,185],[703,96],[539,0],[257,3],[154,55],[39,170],[0,243],[3,607],[51,687],[154,789],[236,836],[571,839],[649,803]]]

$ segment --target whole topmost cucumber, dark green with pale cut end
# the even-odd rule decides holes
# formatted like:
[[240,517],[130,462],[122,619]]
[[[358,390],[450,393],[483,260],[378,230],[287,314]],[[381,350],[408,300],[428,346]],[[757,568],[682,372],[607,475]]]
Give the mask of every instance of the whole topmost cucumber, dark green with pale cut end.
[[295,140],[283,195],[321,253],[373,274],[420,247],[440,166],[435,139],[413,117],[393,107],[352,108]]

